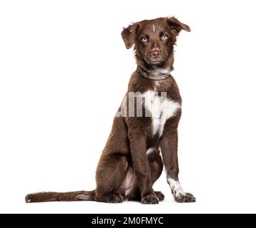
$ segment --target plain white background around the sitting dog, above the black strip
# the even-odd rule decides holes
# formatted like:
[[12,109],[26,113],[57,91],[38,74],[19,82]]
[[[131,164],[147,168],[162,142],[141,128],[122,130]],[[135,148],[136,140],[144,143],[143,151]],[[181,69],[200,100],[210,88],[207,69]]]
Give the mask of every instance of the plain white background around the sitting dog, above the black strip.
[[[27,193],[93,190],[114,114],[135,70],[122,27],[177,16],[183,98],[179,179],[166,200],[25,204]],[[255,1],[1,1],[0,212],[256,212]]]

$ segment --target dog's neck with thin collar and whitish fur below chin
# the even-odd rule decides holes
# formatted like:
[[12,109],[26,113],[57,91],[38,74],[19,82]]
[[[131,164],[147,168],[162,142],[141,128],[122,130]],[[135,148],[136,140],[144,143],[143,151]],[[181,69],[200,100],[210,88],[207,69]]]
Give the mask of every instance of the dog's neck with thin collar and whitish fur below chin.
[[149,78],[154,81],[162,81],[169,78],[169,76],[171,76],[171,71],[170,68],[153,67],[150,70],[146,70],[137,66],[137,73],[144,78]]

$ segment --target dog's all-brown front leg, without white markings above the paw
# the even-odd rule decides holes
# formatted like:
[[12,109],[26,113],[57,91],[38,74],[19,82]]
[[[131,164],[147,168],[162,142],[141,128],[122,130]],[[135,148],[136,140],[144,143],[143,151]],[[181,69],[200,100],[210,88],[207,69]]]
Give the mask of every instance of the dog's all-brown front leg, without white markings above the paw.
[[147,160],[146,138],[143,135],[129,132],[130,150],[142,204],[158,204],[159,199],[152,188],[152,181]]

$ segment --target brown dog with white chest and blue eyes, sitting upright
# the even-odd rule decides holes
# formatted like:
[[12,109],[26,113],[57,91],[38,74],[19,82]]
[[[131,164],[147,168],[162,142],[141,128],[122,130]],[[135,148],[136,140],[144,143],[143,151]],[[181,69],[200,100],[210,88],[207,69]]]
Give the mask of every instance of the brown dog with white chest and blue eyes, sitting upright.
[[164,195],[152,186],[163,167],[174,200],[195,202],[192,194],[182,190],[178,178],[177,128],[182,98],[171,72],[174,45],[182,30],[190,28],[173,16],[139,21],[123,28],[126,48],[134,46],[137,70],[132,73],[100,157],[96,189],[39,192],[26,195],[26,202],[134,200],[157,204],[164,200]]

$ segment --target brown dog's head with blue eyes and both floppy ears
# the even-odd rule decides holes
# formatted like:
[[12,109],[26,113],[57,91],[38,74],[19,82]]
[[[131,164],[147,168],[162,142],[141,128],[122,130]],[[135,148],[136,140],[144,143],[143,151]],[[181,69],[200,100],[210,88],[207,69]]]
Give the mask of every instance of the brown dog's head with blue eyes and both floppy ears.
[[134,45],[137,64],[144,68],[172,68],[173,47],[180,31],[190,31],[174,17],[139,21],[122,31],[126,48]]

